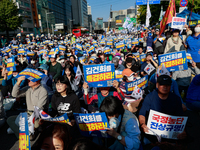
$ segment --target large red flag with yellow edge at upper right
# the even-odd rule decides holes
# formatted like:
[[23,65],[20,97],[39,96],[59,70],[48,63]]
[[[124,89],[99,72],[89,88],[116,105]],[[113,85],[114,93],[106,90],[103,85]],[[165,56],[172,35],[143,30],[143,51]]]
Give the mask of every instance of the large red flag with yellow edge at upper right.
[[160,35],[165,30],[165,26],[172,22],[173,17],[176,17],[176,5],[175,0],[170,0],[169,6],[165,12],[165,16],[160,22]]

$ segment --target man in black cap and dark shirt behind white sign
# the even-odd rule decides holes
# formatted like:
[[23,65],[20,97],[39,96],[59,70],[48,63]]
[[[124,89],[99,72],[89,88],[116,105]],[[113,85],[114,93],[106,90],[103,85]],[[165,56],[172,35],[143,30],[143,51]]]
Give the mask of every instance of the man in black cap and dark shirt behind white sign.
[[[156,90],[148,94],[144,102],[142,103],[142,108],[139,112],[139,123],[143,132],[148,132],[147,127],[147,116],[149,115],[150,109],[174,116],[183,115],[181,98],[176,94],[170,92],[172,79],[168,75],[160,75],[157,78]],[[151,142],[157,141],[155,136],[145,137]]]

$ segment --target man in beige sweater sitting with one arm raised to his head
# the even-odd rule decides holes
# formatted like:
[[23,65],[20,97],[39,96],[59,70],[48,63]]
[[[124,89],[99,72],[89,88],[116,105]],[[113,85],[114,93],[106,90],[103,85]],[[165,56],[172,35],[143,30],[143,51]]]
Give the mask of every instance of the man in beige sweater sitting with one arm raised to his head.
[[[26,97],[27,113],[31,116],[34,112],[34,106],[37,106],[41,110],[48,112],[48,93],[44,87],[41,86],[40,80],[32,82],[28,80],[28,86],[20,89],[22,81],[25,80],[25,76],[20,76],[17,79],[17,83],[12,90],[13,97]],[[7,123],[12,131],[14,131],[17,138],[19,138],[19,128],[15,124],[17,116],[11,116],[7,119]],[[30,135],[30,140],[34,140],[38,134],[39,120],[35,120],[35,133]]]

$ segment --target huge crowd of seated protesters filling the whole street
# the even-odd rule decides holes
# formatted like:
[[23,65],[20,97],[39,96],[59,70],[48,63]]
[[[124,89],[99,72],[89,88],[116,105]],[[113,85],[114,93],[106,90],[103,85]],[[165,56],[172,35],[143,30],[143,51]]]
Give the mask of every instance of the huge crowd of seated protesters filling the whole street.
[[[115,43],[125,39],[141,41],[131,46],[125,44],[124,48],[117,49]],[[112,45],[109,45],[112,51],[108,54],[104,53],[104,50],[109,40],[112,41]],[[81,45],[82,49],[77,48],[77,44]],[[65,46],[66,49],[51,57],[48,53],[46,56],[40,55],[41,50],[49,52],[59,45]],[[95,50],[88,53],[92,45]],[[32,149],[175,149],[180,146],[175,144],[176,140],[163,138],[165,143],[157,144],[155,136],[146,134],[149,111],[152,109],[174,116],[183,116],[187,110],[200,112],[200,24],[194,29],[186,26],[186,30],[182,32],[171,29],[163,34],[159,33],[159,29],[145,27],[131,33],[91,34],[87,37],[26,35],[22,40],[21,36],[17,36],[10,43],[2,36],[1,47],[3,80],[0,127],[7,122],[8,134],[14,133],[19,138],[17,116],[7,118],[4,112],[3,100],[8,97],[16,98],[12,110],[24,110],[28,116],[31,116],[34,106],[37,106],[51,117],[67,113],[70,119],[69,124],[36,120],[35,132],[30,135],[30,140],[33,141],[38,136],[39,138]],[[11,48],[10,51],[6,51],[8,47]],[[33,55],[18,53],[20,48],[27,49]],[[158,75],[157,70],[164,69],[158,65],[158,56],[182,50],[190,53],[193,59],[192,63],[188,62],[188,69]],[[135,53],[146,54],[145,62],[141,63]],[[11,57],[15,59],[16,70],[9,75],[7,60]],[[80,58],[84,58],[84,61]],[[122,71],[121,82],[114,80],[111,87],[89,87],[83,74],[77,84],[76,73],[79,67],[83,73],[84,65],[108,63],[113,63],[115,70]],[[154,69],[148,74],[145,67],[149,64]],[[36,82],[25,76],[17,77],[26,68],[39,70],[46,76]],[[138,98],[128,94],[125,84],[147,74],[148,86],[142,90],[142,96]],[[80,134],[73,113],[86,111],[105,112],[111,127],[111,120],[114,120],[117,126],[107,128],[106,131],[112,138],[88,138]],[[177,138],[178,141],[187,139],[187,130],[178,134]],[[167,146],[164,146],[165,144]]]

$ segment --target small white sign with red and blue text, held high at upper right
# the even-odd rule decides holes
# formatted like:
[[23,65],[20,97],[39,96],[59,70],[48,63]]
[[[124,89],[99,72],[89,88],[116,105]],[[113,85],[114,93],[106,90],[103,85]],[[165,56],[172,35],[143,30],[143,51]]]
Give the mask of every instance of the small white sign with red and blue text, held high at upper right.
[[186,19],[185,18],[173,17],[172,18],[171,28],[182,30],[182,29],[184,29],[185,24],[186,24]]

